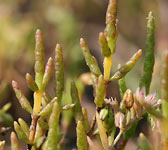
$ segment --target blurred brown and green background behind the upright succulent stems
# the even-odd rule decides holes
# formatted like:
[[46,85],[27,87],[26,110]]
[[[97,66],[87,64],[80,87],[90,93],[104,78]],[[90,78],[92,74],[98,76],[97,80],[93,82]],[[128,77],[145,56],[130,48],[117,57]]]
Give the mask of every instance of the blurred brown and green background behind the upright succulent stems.
[[[98,44],[98,35],[105,27],[105,14],[108,0],[1,0],[0,1],[0,106],[11,102],[9,114],[13,120],[19,117],[27,120],[30,116],[20,107],[11,88],[16,80],[24,94],[32,102],[33,93],[26,85],[27,72],[34,75],[35,31],[41,29],[44,37],[45,58],[54,57],[57,43],[64,51],[65,78],[78,78],[89,69],[82,56],[79,39],[83,37],[91,53],[97,58],[102,69],[103,58]],[[124,0],[118,4],[119,36],[116,53],[113,56],[114,72],[117,65],[124,64],[138,49],[145,48],[146,17],[153,11],[156,18],[156,63],[152,91],[159,97],[160,58],[168,48],[168,1],[167,0]],[[135,91],[143,70],[143,58],[126,76],[127,87]],[[83,91],[83,105],[94,113],[92,87]],[[53,94],[53,80],[48,87]],[[109,96],[119,96],[117,82],[109,88]],[[145,127],[145,125],[144,125]],[[75,130],[75,128],[74,128]],[[139,130],[144,130],[143,126]],[[75,141],[75,133],[70,135]],[[6,139],[6,136],[0,136]],[[70,143],[70,142],[69,142]],[[134,142],[132,142],[134,143]],[[129,145],[129,144],[128,144]],[[133,144],[134,145],[134,144]],[[71,149],[75,143],[71,143]],[[135,146],[136,147],[136,146]],[[134,147],[132,147],[132,150]]]

